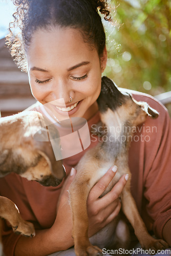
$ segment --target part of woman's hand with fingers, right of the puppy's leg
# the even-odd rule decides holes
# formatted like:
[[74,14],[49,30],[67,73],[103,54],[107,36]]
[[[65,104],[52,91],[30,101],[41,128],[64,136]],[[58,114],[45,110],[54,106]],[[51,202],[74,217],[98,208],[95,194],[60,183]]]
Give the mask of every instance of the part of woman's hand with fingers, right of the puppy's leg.
[[108,225],[119,214],[121,208],[119,196],[128,179],[127,175],[123,175],[109,193],[99,198],[115,176],[116,171],[116,166],[111,167],[90,190],[87,200],[89,237]]

